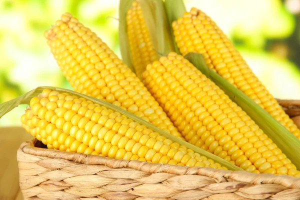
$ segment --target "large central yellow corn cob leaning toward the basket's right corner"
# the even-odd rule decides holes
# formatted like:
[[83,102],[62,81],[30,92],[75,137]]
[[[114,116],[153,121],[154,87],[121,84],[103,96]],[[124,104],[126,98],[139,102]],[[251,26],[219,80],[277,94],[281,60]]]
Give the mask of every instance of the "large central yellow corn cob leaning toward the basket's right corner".
[[254,121],[183,56],[160,57],[143,78],[186,141],[249,172],[300,176]]

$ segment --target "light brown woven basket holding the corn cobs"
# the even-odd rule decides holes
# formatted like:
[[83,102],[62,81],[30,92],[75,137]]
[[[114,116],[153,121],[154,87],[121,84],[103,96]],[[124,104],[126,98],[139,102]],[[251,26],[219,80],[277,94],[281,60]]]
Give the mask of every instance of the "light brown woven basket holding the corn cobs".
[[[290,102],[279,101],[285,110],[298,109]],[[110,159],[47,149],[36,139],[21,144],[17,160],[30,200],[300,199],[300,178],[287,175]]]

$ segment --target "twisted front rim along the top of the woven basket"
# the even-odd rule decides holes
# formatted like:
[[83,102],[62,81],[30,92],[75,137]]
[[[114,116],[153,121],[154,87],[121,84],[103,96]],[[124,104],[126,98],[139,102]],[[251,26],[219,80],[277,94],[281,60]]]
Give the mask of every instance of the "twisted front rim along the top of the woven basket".
[[289,188],[300,188],[300,178],[287,175],[256,174],[246,171],[229,171],[208,167],[187,167],[169,164],[148,163],[138,160],[112,159],[98,155],[85,155],[83,153],[58,151],[35,147],[37,139],[25,141],[20,145],[20,150],[34,156],[48,158],[59,158],[86,165],[105,165],[111,168],[132,168],[146,173],[166,172],[177,175],[195,174],[203,175],[221,181],[223,178],[232,181],[245,182],[250,184],[280,184]]

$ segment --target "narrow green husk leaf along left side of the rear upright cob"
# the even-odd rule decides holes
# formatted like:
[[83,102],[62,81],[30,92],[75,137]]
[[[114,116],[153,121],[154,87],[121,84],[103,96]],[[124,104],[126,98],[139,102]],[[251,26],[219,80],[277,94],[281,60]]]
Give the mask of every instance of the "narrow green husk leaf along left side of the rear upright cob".
[[118,35],[119,35],[119,45],[120,45],[122,60],[133,72],[135,72],[132,58],[131,58],[130,48],[129,48],[127,26],[126,26],[127,10],[130,8],[133,1],[134,0],[120,0]]

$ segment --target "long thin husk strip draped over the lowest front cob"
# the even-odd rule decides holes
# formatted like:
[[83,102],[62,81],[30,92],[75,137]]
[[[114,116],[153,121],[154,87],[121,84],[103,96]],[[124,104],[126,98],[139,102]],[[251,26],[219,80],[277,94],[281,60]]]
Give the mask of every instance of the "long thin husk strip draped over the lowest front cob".
[[191,143],[188,143],[182,139],[179,139],[178,137],[175,137],[159,128],[157,128],[156,126],[154,126],[153,124],[143,120],[142,118],[140,117],[137,117],[136,115],[116,106],[116,105],[113,105],[111,103],[108,103],[106,101],[103,101],[103,100],[99,100],[97,98],[93,98],[93,97],[90,97],[88,95],[85,95],[85,94],[81,94],[81,93],[78,93],[78,92],[75,92],[75,91],[72,91],[72,90],[69,90],[69,89],[63,89],[63,88],[59,88],[59,87],[49,87],[49,86],[40,86],[40,87],[36,87],[35,89],[32,89],[31,91],[28,91],[27,93],[17,97],[17,98],[14,98],[12,100],[9,100],[9,101],[6,101],[4,103],[1,103],[0,104],[0,118],[7,112],[9,112],[10,110],[12,110],[14,107],[18,106],[19,104],[29,104],[30,102],[30,99],[34,96],[37,96],[39,93],[42,92],[43,89],[51,89],[51,90],[57,90],[57,91],[62,91],[62,92],[67,92],[67,93],[70,93],[70,94],[73,94],[73,95],[76,95],[76,96],[80,96],[80,97],[83,97],[87,100],[90,100],[94,103],[97,103],[99,105],[102,105],[102,106],[105,106],[109,109],[112,109],[114,111],[118,111],[120,112],[121,114],[127,116],[128,118],[131,118],[132,120],[140,123],[140,124],[143,124],[144,126],[160,133],[161,135],[181,144],[181,145],[184,145],[186,146],[187,148],[190,148],[192,150],[194,150],[195,152],[198,152],[200,153],[201,155],[204,155],[206,156],[207,158],[210,158],[212,160],[214,160],[215,162],[218,162],[219,164],[221,164],[222,166],[225,166],[227,167],[229,170],[242,170],[241,168],[233,165],[232,163],[212,154],[212,153],[209,153],[199,147],[196,147],[195,145],[192,145]]

